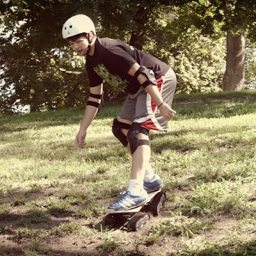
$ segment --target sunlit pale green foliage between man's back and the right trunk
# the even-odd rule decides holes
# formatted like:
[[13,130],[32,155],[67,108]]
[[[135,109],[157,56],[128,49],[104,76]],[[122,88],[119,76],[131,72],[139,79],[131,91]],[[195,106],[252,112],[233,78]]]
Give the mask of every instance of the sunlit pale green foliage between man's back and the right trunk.
[[[166,12],[156,20],[147,51],[169,63],[177,75],[177,93],[216,92],[221,88],[225,70],[223,36],[210,38],[195,26],[184,28],[175,18],[177,10]],[[163,36],[164,35],[164,36]]]

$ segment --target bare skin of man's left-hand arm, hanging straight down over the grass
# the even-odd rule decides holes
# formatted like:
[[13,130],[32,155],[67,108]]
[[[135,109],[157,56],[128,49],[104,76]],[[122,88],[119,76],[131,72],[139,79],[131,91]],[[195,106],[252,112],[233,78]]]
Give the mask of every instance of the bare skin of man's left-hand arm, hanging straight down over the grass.
[[[90,93],[95,94],[95,95],[102,95],[103,92],[103,84],[100,84],[95,87],[90,87]],[[101,99],[95,99],[94,97],[89,97],[88,102],[95,102],[100,104]],[[85,111],[84,111],[84,116],[80,124],[80,129],[79,132],[77,133],[76,136],[76,145],[78,147],[83,147],[86,145],[85,143],[85,138],[86,138],[86,132],[90,124],[92,123],[93,118],[98,112],[98,108],[92,105],[86,105]]]

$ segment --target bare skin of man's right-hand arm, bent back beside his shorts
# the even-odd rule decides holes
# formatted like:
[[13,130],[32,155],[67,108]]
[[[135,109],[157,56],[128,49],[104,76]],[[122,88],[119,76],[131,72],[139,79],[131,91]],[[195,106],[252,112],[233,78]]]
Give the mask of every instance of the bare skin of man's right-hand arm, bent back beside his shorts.
[[[134,63],[134,65],[132,65],[132,67],[130,68],[128,74],[134,76],[134,74],[139,68],[140,65],[138,63]],[[143,74],[140,74],[137,77],[137,79],[140,82],[140,84],[143,84],[145,81],[147,81],[147,78]],[[169,121],[173,118],[173,116],[175,116],[176,111],[170,108],[170,106],[163,101],[161,93],[159,92],[156,85],[148,84],[145,90],[150,94],[156,106],[159,106],[159,111],[165,120]]]

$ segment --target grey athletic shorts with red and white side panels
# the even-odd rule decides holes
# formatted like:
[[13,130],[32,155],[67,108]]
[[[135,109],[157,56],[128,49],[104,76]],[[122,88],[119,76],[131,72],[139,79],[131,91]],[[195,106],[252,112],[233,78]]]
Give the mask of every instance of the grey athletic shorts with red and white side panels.
[[[176,84],[177,80],[172,68],[170,68],[164,76],[157,79],[157,88],[159,89],[164,102],[170,107],[172,106]],[[128,95],[118,117],[135,123],[140,123],[147,129],[162,132],[167,132],[168,130],[168,121],[161,116],[156,104],[143,87],[140,87],[135,94]]]

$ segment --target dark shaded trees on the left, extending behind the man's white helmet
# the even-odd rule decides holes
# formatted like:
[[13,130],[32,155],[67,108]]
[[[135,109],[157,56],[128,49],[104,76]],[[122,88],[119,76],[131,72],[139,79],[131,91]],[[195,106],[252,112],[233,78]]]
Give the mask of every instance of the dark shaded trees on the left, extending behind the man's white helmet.
[[[86,13],[95,22],[99,36],[114,35],[114,38],[118,37],[129,43],[132,35],[132,42],[141,49],[145,34],[138,35],[141,35],[141,28],[147,20],[139,19],[139,14],[143,12],[147,19],[150,17],[152,20],[152,12],[159,4],[160,1],[141,1],[138,4],[131,0],[1,2],[1,19],[5,27],[0,36],[0,65],[4,70],[0,76],[4,81],[2,98],[8,97],[8,108],[17,99],[20,104],[28,104],[31,111],[54,109],[63,104],[72,106],[70,99],[74,100],[74,106],[81,102],[81,97],[72,97],[76,93],[84,95],[82,101],[86,100],[83,92],[84,87],[88,87],[87,79],[81,76],[70,78],[59,69],[78,68],[78,71],[83,71],[84,68],[83,65],[70,65],[68,58],[74,60],[76,56],[71,49],[68,51],[67,42],[61,38],[61,27],[68,17]],[[148,10],[150,13],[147,13]],[[142,21],[144,23],[140,24]],[[111,97],[110,94],[115,93],[109,88],[109,93],[105,94]]]

